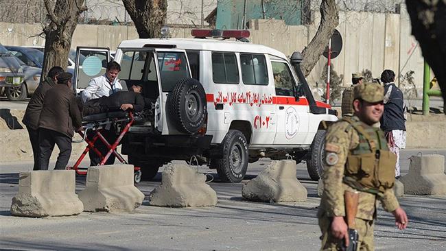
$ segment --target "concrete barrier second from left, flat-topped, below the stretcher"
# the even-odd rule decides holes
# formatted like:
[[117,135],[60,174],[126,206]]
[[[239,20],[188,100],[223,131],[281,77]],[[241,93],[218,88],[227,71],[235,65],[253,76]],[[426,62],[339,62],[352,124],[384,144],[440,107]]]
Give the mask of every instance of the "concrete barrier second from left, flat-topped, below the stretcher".
[[89,167],[79,199],[84,211],[130,212],[141,206],[144,194],[134,187],[132,165],[104,165]]

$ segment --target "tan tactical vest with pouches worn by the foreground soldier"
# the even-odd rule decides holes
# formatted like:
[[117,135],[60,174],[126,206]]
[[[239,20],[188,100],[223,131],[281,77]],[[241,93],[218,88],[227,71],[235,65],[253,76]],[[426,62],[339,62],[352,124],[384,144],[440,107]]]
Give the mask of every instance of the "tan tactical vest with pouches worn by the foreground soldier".
[[362,121],[344,117],[357,131],[360,143],[347,156],[344,183],[368,193],[384,193],[395,182],[397,156],[388,150],[384,132]]

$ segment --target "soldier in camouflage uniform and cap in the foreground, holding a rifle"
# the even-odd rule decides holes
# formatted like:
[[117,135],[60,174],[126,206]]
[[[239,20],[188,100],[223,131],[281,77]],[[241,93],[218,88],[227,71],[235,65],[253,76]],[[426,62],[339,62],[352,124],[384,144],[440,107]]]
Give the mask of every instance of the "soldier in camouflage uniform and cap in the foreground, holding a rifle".
[[377,200],[395,216],[399,229],[408,224],[392,189],[396,156],[388,151],[382,130],[371,126],[382,116],[384,88],[364,83],[356,85],[353,93],[354,116],[333,123],[325,136],[324,192],[318,211],[321,250],[340,250],[348,239],[344,191],[359,193],[355,217],[359,250],[374,250]]

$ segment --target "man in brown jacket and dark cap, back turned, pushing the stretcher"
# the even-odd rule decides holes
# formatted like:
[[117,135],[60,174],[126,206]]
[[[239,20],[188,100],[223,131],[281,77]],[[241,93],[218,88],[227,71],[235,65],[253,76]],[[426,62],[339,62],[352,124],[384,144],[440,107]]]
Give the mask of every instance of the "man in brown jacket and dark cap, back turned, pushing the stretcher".
[[47,91],[38,120],[39,169],[47,170],[54,144],[59,156],[54,169],[65,169],[71,155],[73,128],[82,128],[82,117],[71,90],[71,73],[58,75],[58,84]]

